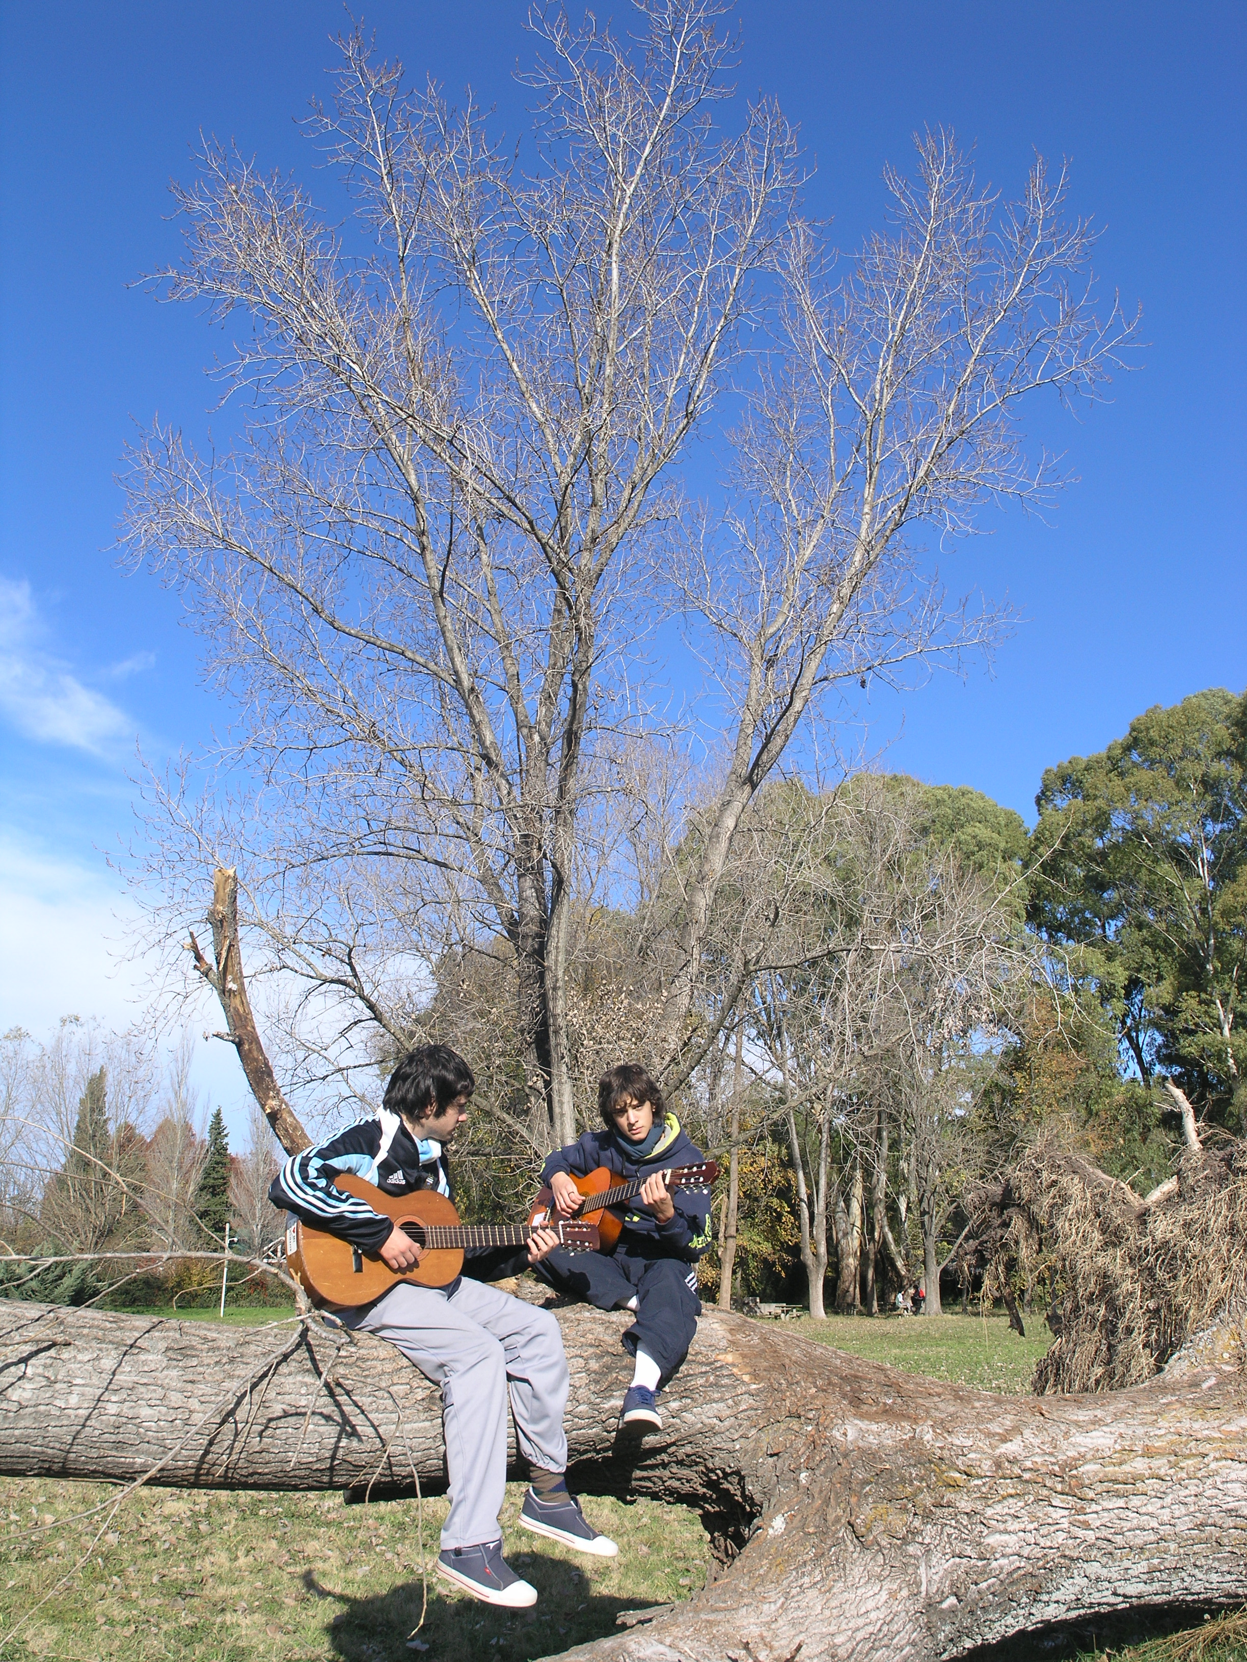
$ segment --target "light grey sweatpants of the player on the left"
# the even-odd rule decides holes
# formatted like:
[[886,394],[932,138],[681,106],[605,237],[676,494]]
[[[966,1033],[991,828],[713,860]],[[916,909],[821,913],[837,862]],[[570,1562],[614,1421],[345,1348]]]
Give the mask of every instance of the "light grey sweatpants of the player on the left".
[[497,1541],[507,1487],[507,1386],[520,1454],[547,1471],[567,1466],[567,1356],[549,1310],[482,1281],[391,1288],[376,1305],[343,1311],[361,1333],[397,1345],[442,1388],[451,1511],[442,1551]]

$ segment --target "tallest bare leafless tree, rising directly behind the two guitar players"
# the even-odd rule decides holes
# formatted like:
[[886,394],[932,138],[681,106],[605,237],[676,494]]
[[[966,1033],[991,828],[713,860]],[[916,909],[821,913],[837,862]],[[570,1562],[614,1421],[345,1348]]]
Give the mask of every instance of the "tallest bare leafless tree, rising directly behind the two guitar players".
[[592,18],[537,22],[530,176],[472,105],[409,95],[344,42],[309,128],[367,256],[296,186],[209,148],[178,191],[168,294],[251,316],[229,379],[266,409],[228,460],[156,430],[131,475],[135,548],[195,585],[249,711],[243,755],[293,831],[248,871],[338,874],[329,902],[304,892],[274,921],[279,962],[404,1042],[377,961],[456,911],[504,936],[542,1143],[574,1132],[585,770],[627,723],[600,666],[647,627],[630,595],[672,514],[655,487],[738,356],[793,183],[770,106],[712,133],[718,7],[642,13],[637,53]]

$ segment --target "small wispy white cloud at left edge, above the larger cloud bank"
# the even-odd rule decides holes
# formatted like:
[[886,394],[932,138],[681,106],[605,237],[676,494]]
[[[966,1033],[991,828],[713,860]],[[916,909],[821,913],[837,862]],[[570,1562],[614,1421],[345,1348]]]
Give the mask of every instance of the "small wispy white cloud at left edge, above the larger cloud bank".
[[105,755],[135,723],[42,645],[30,583],[0,577],[0,715],[25,738]]

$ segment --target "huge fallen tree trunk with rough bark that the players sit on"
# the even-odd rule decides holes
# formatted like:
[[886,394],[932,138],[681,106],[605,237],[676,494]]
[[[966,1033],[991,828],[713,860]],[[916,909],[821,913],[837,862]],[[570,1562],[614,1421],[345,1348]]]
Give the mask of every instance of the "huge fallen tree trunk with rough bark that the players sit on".
[[[534,1293],[532,1296],[540,1296]],[[1247,1323],[1102,1396],[1004,1398],[707,1311],[663,1431],[615,1436],[632,1318],[559,1310],[582,1492],[695,1507],[715,1579],[582,1662],[943,1662],[1131,1605],[1247,1599]],[[0,1471],[411,1492],[434,1386],[391,1346],[0,1301]]]

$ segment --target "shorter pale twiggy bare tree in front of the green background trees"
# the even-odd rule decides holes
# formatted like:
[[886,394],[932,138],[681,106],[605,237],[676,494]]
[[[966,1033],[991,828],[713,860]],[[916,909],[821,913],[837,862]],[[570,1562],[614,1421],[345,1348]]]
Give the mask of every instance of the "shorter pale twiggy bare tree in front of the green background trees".
[[810,1313],[823,1315],[831,1237],[836,1310],[865,1301],[875,1315],[880,1263],[906,1275],[888,1217],[893,1152],[916,1177],[934,1253],[958,1172],[976,1175],[961,1100],[988,1065],[976,1044],[1041,966],[1016,874],[966,869],[931,834],[916,781],[858,774],[831,796],[783,799],[816,833],[791,839],[805,856],[781,879],[753,1025],[791,1160]]

